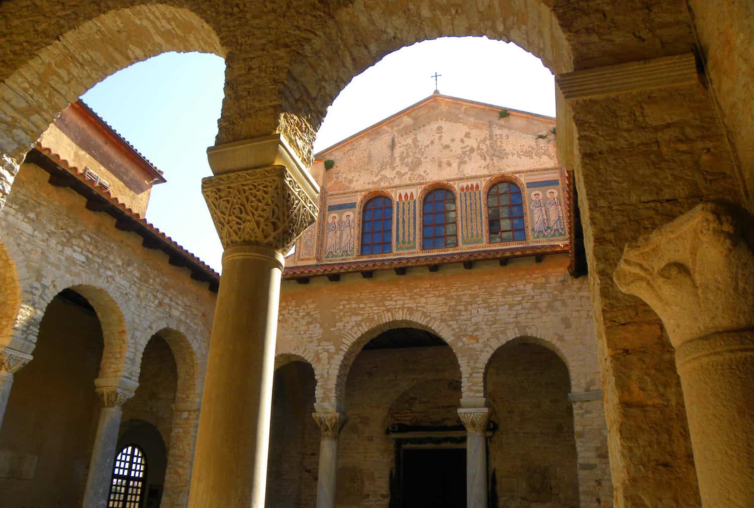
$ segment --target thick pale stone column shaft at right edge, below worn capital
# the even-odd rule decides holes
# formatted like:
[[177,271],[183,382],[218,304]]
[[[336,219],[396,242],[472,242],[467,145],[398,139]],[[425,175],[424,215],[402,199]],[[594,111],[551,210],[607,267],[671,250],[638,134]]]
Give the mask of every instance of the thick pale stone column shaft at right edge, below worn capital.
[[682,344],[676,363],[703,505],[754,506],[754,331]]

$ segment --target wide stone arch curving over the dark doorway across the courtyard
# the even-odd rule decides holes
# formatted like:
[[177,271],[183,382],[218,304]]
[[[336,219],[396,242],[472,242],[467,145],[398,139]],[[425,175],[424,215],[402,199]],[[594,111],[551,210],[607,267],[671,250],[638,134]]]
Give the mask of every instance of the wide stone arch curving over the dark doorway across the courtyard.
[[[466,386],[467,364],[458,354],[460,343],[455,339],[451,329],[434,316],[417,309],[386,310],[378,316],[369,316],[359,325],[346,331],[342,337],[339,353],[326,367],[322,389],[317,385],[317,402],[339,403],[345,393],[345,381],[351,371],[356,356],[369,340],[394,328],[418,328],[437,335],[450,346],[458,366],[461,369],[461,386]],[[465,396],[465,395],[464,395]]]

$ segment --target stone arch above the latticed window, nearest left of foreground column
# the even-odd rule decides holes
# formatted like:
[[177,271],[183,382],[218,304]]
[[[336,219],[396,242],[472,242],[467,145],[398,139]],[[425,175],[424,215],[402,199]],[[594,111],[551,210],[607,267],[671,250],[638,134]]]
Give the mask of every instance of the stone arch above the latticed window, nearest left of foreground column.
[[[141,371],[142,357],[149,341],[154,337],[161,337],[167,346],[170,347],[170,353],[173,353],[173,359],[176,362],[176,371],[178,373],[178,382],[176,384],[175,403],[180,405],[196,405],[201,402],[201,380],[204,378],[203,362],[200,361],[201,352],[198,349],[196,340],[189,340],[185,334],[177,331],[178,326],[162,326],[156,328],[152,333],[147,332],[147,340],[139,343],[139,349],[135,352],[133,366],[129,372],[131,379],[139,379]],[[206,355],[205,355],[206,356]]]

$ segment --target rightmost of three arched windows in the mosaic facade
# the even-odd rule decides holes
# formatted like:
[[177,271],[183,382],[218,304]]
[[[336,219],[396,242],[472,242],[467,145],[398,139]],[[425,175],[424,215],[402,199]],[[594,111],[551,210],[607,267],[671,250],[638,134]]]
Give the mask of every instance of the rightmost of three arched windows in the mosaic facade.
[[526,240],[521,189],[513,183],[495,183],[487,192],[489,242]]

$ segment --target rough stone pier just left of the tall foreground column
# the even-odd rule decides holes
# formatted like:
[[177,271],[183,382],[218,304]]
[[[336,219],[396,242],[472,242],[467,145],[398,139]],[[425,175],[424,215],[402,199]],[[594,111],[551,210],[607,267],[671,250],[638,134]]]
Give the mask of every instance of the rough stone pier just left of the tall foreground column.
[[194,458],[196,431],[199,424],[197,403],[173,404],[173,426],[167,450],[162,508],[184,508],[189,503],[191,464]]

